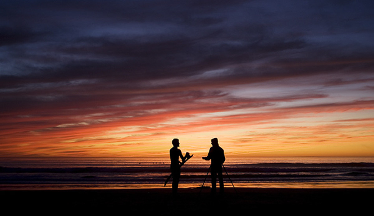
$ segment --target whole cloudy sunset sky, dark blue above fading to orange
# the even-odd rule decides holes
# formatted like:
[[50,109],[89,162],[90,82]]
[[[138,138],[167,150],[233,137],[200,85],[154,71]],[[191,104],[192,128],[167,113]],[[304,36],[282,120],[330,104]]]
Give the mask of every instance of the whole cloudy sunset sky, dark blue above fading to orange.
[[374,1],[0,2],[0,156],[374,156]]

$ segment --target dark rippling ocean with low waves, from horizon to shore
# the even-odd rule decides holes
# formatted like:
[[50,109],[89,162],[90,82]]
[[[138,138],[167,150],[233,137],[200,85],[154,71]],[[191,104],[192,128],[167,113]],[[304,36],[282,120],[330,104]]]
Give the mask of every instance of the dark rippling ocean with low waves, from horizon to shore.
[[[3,158],[0,190],[164,188],[169,158]],[[180,188],[210,186],[209,161],[181,168]],[[374,158],[226,158],[225,187],[374,188]],[[166,188],[171,188],[172,179]]]

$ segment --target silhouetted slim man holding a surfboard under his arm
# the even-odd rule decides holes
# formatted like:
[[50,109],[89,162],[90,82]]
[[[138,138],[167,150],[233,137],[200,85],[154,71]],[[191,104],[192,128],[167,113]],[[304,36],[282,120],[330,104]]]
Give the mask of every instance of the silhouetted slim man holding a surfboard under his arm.
[[[178,184],[179,184],[179,178],[181,176],[181,162],[179,161],[179,158],[182,159],[182,162],[186,160],[186,157],[183,157],[182,151],[178,149],[179,147],[179,140],[173,139],[172,142],[173,147],[170,149],[170,170],[171,174],[173,176],[173,195],[177,195],[178,190]],[[187,155],[186,155],[187,156]]]

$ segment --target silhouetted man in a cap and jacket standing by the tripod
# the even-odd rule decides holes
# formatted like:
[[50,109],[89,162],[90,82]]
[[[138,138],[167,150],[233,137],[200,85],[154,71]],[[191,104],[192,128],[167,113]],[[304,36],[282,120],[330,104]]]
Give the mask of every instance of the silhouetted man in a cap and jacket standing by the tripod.
[[222,164],[226,158],[223,149],[218,146],[218,139],[213,138],[211,142],[212,147],[209,149],[208,156],[203,157],[203,159],[211,160],[212,194],[216,194],[217,174],[220,182],[220,194],[223,194]]

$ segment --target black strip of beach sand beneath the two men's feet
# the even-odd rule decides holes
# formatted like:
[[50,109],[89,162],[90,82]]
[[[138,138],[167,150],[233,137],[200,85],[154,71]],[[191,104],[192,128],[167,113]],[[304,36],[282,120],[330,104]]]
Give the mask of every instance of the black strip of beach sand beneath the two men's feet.
[[[360,214],[374,206],[373,189],[227,188],[212,197],[210,189],[179,189],[179,198],[165,189],[0,191],[4,209],[39,214],[115,215],[252,215],[286,213]],[[211,210],[213,212],[211,212]],[[53,213],[54,212],[54,213]],[[370,211],[371,212],[371,211]]]

